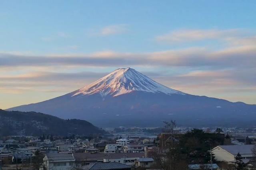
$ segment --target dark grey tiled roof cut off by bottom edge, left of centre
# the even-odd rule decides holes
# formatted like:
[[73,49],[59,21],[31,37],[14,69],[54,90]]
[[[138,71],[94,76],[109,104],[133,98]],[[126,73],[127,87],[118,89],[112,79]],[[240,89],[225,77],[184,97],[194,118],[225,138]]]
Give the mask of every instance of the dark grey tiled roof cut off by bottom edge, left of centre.
[[118,162],[104,162],[93,163],[86,166],[82,166],[83,170],[113,170],[113,169],[130,169],[130,165],[121,164]]

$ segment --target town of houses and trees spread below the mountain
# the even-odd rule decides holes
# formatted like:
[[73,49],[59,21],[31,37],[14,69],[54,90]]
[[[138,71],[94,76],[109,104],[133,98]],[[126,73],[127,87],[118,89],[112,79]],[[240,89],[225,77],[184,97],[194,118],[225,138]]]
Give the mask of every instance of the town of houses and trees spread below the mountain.
[[1,170],[256,169],[256,138],[244,136],[254,129],[165,123],[164,128],[106,128],[106,134],[88,137],[1,137]]

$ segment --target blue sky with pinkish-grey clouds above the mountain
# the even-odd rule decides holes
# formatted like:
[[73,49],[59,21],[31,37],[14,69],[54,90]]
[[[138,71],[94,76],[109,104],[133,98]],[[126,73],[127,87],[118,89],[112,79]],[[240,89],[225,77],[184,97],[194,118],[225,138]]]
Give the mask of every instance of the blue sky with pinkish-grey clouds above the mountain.
[[253,0],[2,0],[0,108],[127,66],[187,93],[256,104],[255,9]]

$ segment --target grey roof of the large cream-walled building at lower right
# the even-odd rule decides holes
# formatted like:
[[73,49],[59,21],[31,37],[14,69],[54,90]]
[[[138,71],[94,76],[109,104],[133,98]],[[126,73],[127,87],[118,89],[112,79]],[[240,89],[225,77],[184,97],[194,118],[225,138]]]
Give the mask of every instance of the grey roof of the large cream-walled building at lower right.
[[254,145],[220,145],[219,147],[234,155],[237,155],[238,152],[240,154],[253,154],[252,149]]

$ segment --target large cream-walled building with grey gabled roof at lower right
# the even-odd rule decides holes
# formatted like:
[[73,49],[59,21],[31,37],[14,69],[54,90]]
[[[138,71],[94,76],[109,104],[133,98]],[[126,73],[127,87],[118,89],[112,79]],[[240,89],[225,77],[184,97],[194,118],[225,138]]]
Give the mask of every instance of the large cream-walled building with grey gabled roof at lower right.
[[238,152],[242,159],[255,160],[256,156],[252,152],[253,147],[254,145],[219,145],[212,149],[212,153],[217,161],[234,161]]

